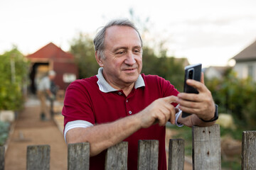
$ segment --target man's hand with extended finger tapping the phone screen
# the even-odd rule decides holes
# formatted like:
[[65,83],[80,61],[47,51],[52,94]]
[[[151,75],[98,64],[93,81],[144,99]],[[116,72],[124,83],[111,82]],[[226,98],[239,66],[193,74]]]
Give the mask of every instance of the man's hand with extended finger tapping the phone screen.
[[175,123],[175,107],[171,103],[175,103],[178,97],[168,96],[159,98],[153,101],[143,111],[137,114],[141,120],[142,128],[149,128],[149,126],[159,123],[159,125],[166,125],[170,120],[172,124]]

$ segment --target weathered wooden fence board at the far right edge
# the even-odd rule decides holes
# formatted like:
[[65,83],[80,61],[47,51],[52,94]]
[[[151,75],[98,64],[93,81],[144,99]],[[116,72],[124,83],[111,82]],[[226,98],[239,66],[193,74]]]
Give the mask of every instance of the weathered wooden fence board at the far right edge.
[[242,132],[242,170],[256,169],[256,131]]

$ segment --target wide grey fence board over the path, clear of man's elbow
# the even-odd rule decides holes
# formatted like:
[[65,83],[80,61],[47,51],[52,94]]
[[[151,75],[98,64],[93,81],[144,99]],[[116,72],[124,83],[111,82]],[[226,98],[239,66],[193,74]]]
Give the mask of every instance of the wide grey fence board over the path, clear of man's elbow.
[[27,170],[50,169],[50,146],[31,145],[27,147]]

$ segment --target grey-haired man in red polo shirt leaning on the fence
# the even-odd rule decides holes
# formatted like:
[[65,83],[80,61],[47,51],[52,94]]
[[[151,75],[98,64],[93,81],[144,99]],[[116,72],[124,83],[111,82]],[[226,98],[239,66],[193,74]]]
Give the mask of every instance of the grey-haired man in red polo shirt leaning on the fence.
[[[104,169],[105,151],[127,141],[128,169],[137,169],[138,140],[159,140],[159,169],[166,169],[165,125],[208,126],[215,104],[201,82],[188,80],[199,94],[178,93],[169,81],[141,74],[142,38],[128,20],[110,21],[97,33],[94,77],[74,81],[65,94],[65,140],[90,142],[90,169]],[[192,115],[181,118],[182,111]]]

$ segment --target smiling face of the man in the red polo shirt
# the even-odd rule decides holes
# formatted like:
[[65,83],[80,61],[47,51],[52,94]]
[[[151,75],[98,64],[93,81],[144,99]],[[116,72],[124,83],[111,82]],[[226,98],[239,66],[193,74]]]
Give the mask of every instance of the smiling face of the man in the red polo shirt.
[[127,26],[112,26],[105,34],[105,59],[99,63],[107,82],[116,89],[133,85],[142,71],[142,44]]

